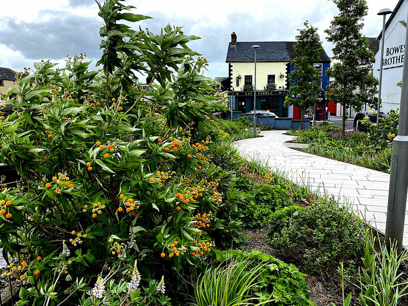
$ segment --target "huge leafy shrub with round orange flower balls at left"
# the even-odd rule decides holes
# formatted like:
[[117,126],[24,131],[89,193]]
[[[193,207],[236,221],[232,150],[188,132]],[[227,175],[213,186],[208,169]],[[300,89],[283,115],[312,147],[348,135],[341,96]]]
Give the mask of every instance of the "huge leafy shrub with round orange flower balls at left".
[[169,25],[162,35],[133,31],[118,21],[148,17],[122,13],[132,7],[121,0],[99,7],[100,34],[111,38],[104,69],[89,71],[82,54],[65,69],[35,63],[34,75],[17,75],[8,96],[21,99],[0,120],[0,162],[22,180],[0,193],[7,273],[30,289],[20,305],[62,303],[65,293],[81,305],[164,305],[163,278],[140,292],[135,260],[142,277],[166,280],[207,258],[214,224],[228,231],[217,214],[228,210],[219,189],[230,182],[212,170],[222,136],[212,113],[224,104],[201,75],[207,60],[187,46],[197,37]]

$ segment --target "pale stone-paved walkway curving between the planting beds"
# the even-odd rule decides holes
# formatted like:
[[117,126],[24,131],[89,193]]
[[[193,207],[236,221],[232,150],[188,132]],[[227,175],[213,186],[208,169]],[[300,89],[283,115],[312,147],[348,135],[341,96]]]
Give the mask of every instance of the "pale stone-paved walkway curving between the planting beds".
[[[256,159],[272,170],[284,171],[299,185],[308,184],[313,190],[340,196],[354,212],[385,233],[390,174],[294,150],[284,145],[295,138],[283,135],[285,132],[261,132],[264,137],[240,140],[235,146],[247,160]],[[407,214],[404,246],[408,245]]]

